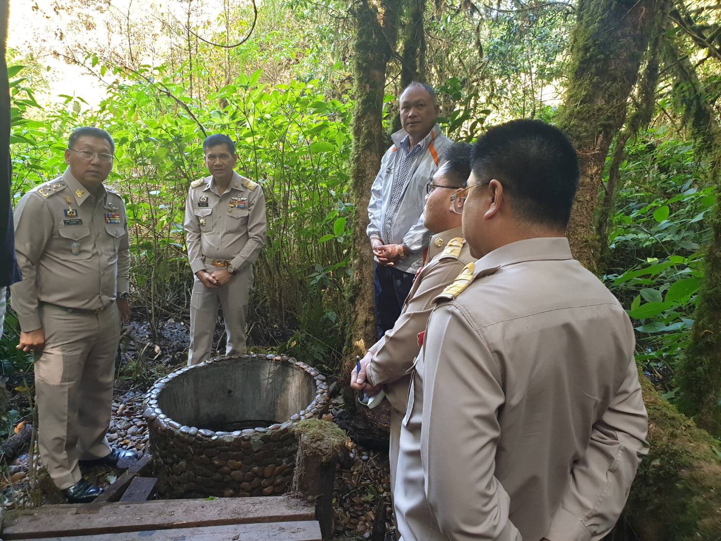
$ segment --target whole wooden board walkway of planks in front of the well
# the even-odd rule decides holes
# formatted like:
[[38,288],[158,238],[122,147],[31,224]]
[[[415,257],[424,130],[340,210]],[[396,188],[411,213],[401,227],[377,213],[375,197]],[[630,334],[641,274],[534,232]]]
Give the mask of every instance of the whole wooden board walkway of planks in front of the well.
[[320,541],[315,506],[288,496],[101,502],[10,512],[4,540]]

